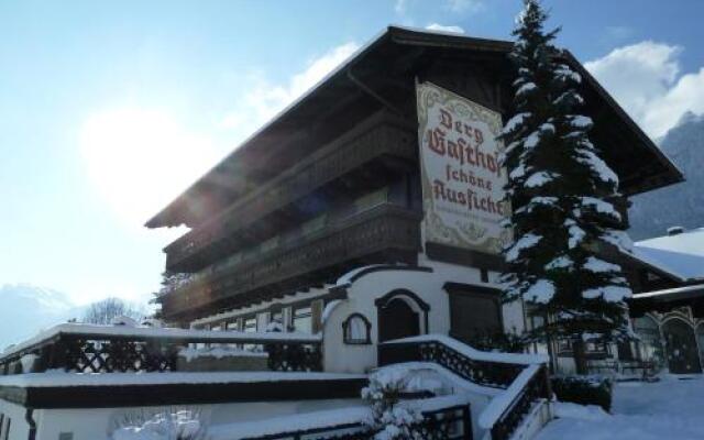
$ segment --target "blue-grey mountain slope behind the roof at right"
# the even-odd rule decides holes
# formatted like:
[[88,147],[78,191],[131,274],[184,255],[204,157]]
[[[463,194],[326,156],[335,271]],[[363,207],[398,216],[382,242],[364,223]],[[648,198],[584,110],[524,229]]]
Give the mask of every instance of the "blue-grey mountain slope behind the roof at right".
[[634,240],[664,235],[673,226],[704,227],[704,116],[686,113],[659,144],[686,182],[631,198]]

